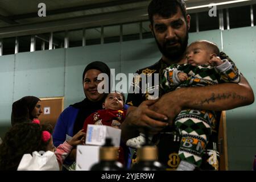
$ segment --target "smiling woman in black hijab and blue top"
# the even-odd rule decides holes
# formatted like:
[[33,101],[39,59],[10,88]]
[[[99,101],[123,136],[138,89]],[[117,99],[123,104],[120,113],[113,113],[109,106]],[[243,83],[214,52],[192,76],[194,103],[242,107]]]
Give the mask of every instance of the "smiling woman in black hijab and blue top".
[[[106,73],[110,80],[110,69],[108,65],[101,61],[94,61],[86,66],[84,73],[82,73],[82,83],[84,86],[84,93],[86,98],[70,105],[65,109],[55,125],[53,131],[53,143],[57,147],[66,140],[66,134],[73,137],[79,130],[82,129],[85,119],[97,110],[102,109],[102,102],[104,101],[104,93],[98,93],[97,86],[101,82],[98,80],[100,73]],[[69,155],[71,164],[75,161],[75,152],[72,150]]]

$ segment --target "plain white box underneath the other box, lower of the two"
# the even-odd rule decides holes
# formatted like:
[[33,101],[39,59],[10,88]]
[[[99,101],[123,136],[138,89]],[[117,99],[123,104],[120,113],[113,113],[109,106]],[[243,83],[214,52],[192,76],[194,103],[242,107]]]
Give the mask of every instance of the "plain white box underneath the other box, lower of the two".
[[79,145],[76,149],[76,171],[89,171],[100,161],[100,146]]

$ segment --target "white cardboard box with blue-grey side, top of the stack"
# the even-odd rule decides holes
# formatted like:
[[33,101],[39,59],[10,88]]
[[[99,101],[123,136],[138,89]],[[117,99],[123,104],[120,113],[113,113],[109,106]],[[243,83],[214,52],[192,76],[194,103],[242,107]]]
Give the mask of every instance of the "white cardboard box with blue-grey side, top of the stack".
[[115,147],[119,147],[121,140],[121,129],[105,125],[88,125],[85,144],[102,146],[106,138],[112,138]]

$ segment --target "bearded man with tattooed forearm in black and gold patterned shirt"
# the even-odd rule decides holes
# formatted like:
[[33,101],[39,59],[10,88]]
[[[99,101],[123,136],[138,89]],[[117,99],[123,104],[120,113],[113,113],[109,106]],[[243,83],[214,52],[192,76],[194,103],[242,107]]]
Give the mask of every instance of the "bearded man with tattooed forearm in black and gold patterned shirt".
[[[148,5],[150,28],[155,37],[162,58],[149,67],[139,69],[138,75],[152,75],[162,73],[163,69],[172,64],[183,64],[184,53],[188,44],[188,30],[190,16],[187,15],[183,0],[152,0]],[[221,59],[227,58],[221,53]],[[121,125],[122,139],[127,140],[137,137],[143,132],[144,127],[149,133],[158,134],[159,161],[166,165],[167,170],[176,169],[180,159],[179,132],[173,125],[173,120],[183,108],[205,110],[229,110],[235,107],[249,105],[254,102],[253,90],[246,79],[241,75],[238,84],[218,84],[204,87],[180,88],[173,92],[163,94],[159,89],[159,99],[152,97],[150,93],[159,88],[158,85],[142,88],[140,76],[134,77],[134,90],[140,93],[129,93],[126,104],[130,105],[127,110],[125,121]],[[198,97],[200,94],[200,97]],[[220,112],[218,112],[218,119]],[[163,122],[165,121],[165,122]],[[203,156],[201,169],[218,169],[218,122],[212,128],[209,143]],[[153,139],[154,140],[154,139]],[[190,143],[186,143],[190,144]]]

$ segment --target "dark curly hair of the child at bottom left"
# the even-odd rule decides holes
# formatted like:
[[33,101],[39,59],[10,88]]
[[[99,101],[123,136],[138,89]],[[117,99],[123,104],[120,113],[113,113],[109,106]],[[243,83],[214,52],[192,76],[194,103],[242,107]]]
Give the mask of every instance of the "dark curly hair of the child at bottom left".
[[48,131],[51,134],[51,125],[17,123],[11,127],[0,145],[0,171],[17,170],[24,154],[32,154],[34,151],[46,151],[51,139],[43,142],[43,131]]

